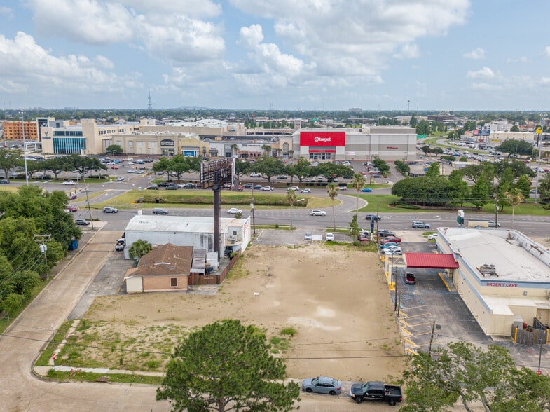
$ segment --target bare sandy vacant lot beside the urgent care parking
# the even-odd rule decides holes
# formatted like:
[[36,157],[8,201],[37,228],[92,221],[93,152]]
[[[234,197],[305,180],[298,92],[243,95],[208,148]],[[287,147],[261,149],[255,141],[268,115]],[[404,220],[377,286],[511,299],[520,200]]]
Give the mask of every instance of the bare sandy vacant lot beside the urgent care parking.
[[289,348],[277,355],[291,378],[392,380],[404,370],[378,255],[341,245],[252,246],[215,296],[104,296],[85,315],[138,342],[152,325],[160,334],[163,325],[191,330],[224,318],[255,324],[268,338],[294,327]]

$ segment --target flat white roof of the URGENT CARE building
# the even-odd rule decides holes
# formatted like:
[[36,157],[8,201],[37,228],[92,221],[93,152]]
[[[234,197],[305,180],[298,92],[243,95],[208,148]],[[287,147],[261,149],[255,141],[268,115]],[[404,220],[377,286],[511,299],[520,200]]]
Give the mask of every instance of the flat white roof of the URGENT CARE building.
[[550,282],[550,252],[521,232],[490,228],[438,230],[451,251],[462,256],[472,268],[494,265],[496,275],[474,270],[480,280]]

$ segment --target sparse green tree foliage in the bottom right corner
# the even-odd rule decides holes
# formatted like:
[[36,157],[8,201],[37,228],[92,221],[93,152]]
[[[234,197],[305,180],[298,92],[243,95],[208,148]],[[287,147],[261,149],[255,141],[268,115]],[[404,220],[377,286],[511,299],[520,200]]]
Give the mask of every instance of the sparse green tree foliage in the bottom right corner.
[[546,411],[550,378],[517,367],[507,348],[450,343],[434,355],[419,352],[404,373],[404,412],[451,411],[460,401],[466,411],[481,404],[485,411]]

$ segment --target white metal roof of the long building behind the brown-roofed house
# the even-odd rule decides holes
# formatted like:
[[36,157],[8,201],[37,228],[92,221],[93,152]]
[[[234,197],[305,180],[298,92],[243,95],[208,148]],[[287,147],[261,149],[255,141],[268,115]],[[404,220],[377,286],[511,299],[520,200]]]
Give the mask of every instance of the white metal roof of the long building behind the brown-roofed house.
[[[247,219],[220,217],[222,228],[242,226]],[[214,233],[214,217],[137,215],[126,225],[126,231],[174,232],[174,233]]]

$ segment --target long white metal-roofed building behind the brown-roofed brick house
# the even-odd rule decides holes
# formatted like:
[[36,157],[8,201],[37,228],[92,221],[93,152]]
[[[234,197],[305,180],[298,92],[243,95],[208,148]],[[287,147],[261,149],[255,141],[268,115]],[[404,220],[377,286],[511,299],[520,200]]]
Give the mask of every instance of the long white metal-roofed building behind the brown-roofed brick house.
[[[214,252],[214,218],[198,216],[137,215],[132,217],[125,229],[126,247],[124,258],[130,259],[128,251],[136,240],[146,240],[151,245],[193,246]],[[235,219],[220,218],[220,253],[226,247],[233,252],[244,251],[251,239],[250,217]]]

